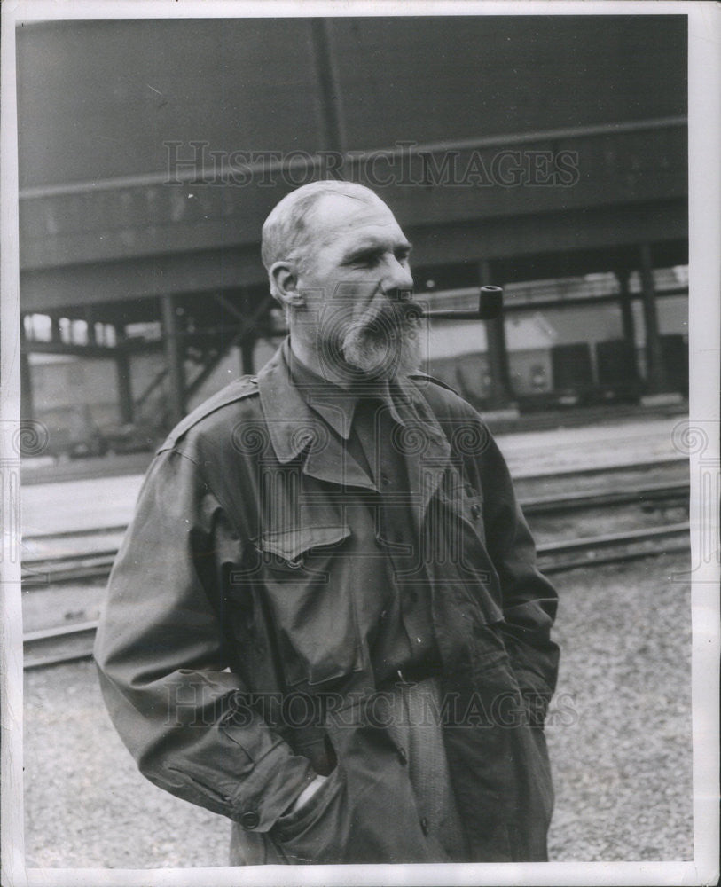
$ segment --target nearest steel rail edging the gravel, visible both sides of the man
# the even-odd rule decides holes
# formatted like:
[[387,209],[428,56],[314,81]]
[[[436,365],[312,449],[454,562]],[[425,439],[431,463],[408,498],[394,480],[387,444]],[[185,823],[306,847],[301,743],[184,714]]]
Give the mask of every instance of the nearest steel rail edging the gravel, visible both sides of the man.
[[[624,563],[659,553],[684,552],[688,548],[689,524],[610,533],[538,546],[540,567],[545,573]],[[88,659],[92,655],[97,622],[76,623],[60,628],[29,632],[23,638],[26,669]]]

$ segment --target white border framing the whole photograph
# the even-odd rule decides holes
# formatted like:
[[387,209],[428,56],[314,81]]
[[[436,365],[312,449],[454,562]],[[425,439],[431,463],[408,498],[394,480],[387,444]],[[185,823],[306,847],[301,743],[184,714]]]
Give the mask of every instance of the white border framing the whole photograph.
[[[24,848],[22,615],[20,607],[20,271],[15,25],[21,20],[242,18],[417,15],[684,15],[689,49],[690,396],[689,431],[708,445],[691,452],[692,554],[701,536],[718,543],[718,511],[701,497],[699,478],[719,465],[719,330],[721,317],[721,5],[704,0],[5,0],[2,4],[2,317],[0,318],[0,694],[2,694],[2,873],[4,887],[183,884],[193,887],[278,884],[711,884],[719,852],[719,567],[706,561],[692,582],[694,860],[688,862],[547,862],[521,864],[309,866],[177,869],[27,868]],[[710,457],[710,462],[709,462]],[[715,463],[714,460],[715,459]],[[704,465],[706,468],[704,468]],[[710,516],[709,516],[710,515]],[[710,523],[709,523],[710,522]],[[710,534],[710,537],[709,537]],[[694,561],[695,562],[695,561]],[[659,773],[659,779],[663,774]]]

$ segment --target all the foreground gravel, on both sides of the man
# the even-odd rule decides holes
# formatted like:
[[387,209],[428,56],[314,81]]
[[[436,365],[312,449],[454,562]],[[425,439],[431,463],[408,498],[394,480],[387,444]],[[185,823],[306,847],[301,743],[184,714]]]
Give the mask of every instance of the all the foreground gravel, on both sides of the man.
[[[687,558],[556,578],[563,655],[547,735],[553,860],[689,860]],[[92,663],[26,675],[29,867],[200,867],[227,860],[228,823],[156,789],[114,733]]]

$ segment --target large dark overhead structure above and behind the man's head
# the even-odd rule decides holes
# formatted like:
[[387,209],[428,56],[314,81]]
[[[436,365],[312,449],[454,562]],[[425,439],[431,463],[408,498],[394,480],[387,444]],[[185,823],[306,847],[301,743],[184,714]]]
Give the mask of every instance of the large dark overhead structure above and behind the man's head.
[[683,16],[28,23],[18,75],[26,311],[260,287],[264,217],[326,174],[416,267],[684,261]]

